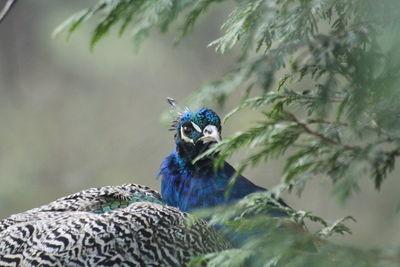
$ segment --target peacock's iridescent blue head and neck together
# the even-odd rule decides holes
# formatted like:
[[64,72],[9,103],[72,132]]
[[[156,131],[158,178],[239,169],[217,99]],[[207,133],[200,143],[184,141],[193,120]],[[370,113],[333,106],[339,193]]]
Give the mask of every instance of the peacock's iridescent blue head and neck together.
[[[185,112],[175,126],[175,149],[161,164],[161,194],[164,201],[182,211],[227,204],[244,196],[266,190],[239,176],[228,198],[225,192],[235,169],[227,162],[215,170],[214,158],[193,159],[220,141],[221,120],[208,108]],[[282,204],[283,201],[282,201]],[[286,205],[286,204],[284,204]],[[274,216],[283,212],[273,211]]]

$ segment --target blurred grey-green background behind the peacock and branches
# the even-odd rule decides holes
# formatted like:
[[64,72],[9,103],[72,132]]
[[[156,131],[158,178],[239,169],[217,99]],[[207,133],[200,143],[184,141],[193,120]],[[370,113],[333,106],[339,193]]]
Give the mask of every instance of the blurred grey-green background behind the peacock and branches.
[[[0,218],[89,187],[139,183],[159,189],[159,165],[173,149],[173,133],[160,120],[169,108],[165,97],[190,96],[233,62],[232,55],[207,48],[229,12],[224,6],[211,10],[177,47],[177,35],[153,34],[135,53],[128,37],[112,33],[90,52],[90,24],[68,42],[65,36],[51,38],[65,18],[94,2],[20,1],[0,24]],[[217,111],[223,116],[236,100]],[[254,113],[241,112],[223,134],[256,120]],[[272,187],[281,166],[270,162],[245,176]],[[390,175],[381,192],[360,177],[361,193],[345,206],[321,177],[301,198],[284,198],[331,221],[353,215],[353,235],[338,242],[398,244],[398,174]]]

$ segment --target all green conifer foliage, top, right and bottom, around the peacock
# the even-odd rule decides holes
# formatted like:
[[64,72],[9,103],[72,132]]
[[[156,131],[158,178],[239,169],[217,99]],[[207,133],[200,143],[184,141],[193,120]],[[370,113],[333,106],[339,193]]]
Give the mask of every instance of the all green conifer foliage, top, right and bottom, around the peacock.
[[[74,15],[57,32],[75,31],[97,18],[93,47],[112,27],[130,30],[139,44],[150,30],[161,32],[175,20],[179,37],[213,3],[221,0],[100,0]],[[226,118],[243,109],[262,114],[251,128],[227,138],[201,157],[217,153],[217,165],[241,149],[250,156],[239,171],[283,157],[282,183],[268,194],[248,196],[230,208],[205,211],[212,223],[231,231],[270,229],[243,247],[194,259],[193,265],[241,266],[397,266],[399,252],[362,251],[327,239],[350,233],[344,220],[329,225],[308,212],[285,209],[287,218],[270,218],[271,195],[301,193],[307,181],[329,177],[333,194],[345,202],[369,177],[379,190],[400,155],[400,2],[398,0],[242,0],[212,42],[217,52],[237,49],[236,63],[226,75],[200,88],[191,105],[223,104],[235,90],[245,97]],[[250,98],[250,91],[258,96]],[[234,182],[234,178],[233,181]],[[228,192],[229,193],[229,192]],[[279,203],[274,202],[276,205]],[[246,214],[253,214],[247,216]],[[246,215],[246,216],[245,216]],[[304,220],[321,229],[299,229]],[[287,224],[294,230],[280,231]],[[300,228],[299,228],[300,227]],[[297,230],[296,230],[297,229]],[[318,252],[301,248],[314,242]],[[265,249],[268,247],[268,249]]]

